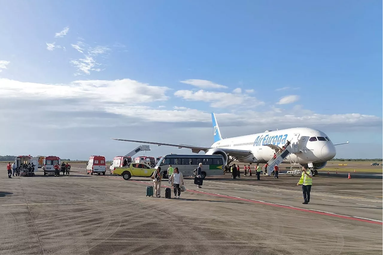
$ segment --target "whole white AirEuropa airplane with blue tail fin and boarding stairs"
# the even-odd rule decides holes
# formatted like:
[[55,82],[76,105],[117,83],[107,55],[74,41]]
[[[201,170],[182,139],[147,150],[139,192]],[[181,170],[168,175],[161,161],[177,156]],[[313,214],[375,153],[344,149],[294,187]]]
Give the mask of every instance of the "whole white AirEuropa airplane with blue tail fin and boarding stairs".
[[[178,147],[178,149],[187,148],[191,149],[193,153],[204,151],[206,155],[222,155],[227,163],[231,163],[234,160],[250,164],[268,163],[269,175],[273,167],[282,162],[294,162],[294,164],[311,169],[321,169],[326,166],[327,161],[335,157],[336,145],[349,143],[347,141],[333,144],[324,132],[308,127],[294,127],[276,131],[266,130],[263,133],[223,139],[213,112],[211,113],[211,118],[213,122],[214,143],[210,147],[116,138],[110,139],[156,144],[158,146],[172,146]],[[287,142],[289,143],[287,144]],[[284,153],[280,152],[282,147]],[[276,159],[274,159],[274,153],[278,154]]]

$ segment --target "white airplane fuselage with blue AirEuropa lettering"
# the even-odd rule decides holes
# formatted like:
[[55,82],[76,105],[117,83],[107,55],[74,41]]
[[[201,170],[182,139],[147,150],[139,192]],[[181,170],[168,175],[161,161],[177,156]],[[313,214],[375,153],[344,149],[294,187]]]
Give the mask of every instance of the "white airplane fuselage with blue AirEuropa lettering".
[[291,143],[297,142],[299,152],[290,154],[286,160],[298,159],[301,164],[310,162],[322,163],[327,162],[336,155],[334,144],[324,132],[307,127],[295,127],[226,138],[214,142],[211,147],[218,149],[250,150],[253,153],[252,156],[239,158],[237,161],[266,163],[273,157],[275,152],[275,149],[272,147],[276,148],[275,146],[267,145],[282,147],[287,141]]

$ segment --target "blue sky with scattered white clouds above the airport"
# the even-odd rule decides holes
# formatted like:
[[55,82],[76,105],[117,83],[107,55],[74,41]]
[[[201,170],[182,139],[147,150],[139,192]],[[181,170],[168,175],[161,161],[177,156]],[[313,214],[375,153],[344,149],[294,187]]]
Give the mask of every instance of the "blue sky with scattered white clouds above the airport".
[[0,154],[84,159],[137,145],[108,137],[210,145],[214,111],[223,136],[309,126],[350,141],[336,157],[380,157],[382,7],[4,2]]

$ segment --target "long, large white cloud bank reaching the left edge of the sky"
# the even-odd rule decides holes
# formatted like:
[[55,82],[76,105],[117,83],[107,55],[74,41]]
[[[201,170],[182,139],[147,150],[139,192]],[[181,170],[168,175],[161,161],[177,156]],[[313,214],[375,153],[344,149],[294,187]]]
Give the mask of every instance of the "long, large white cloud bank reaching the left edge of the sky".
[[[98,102],[102,106],[110,103],[134,105],[151,101],[165,101],[167,87],[151,86],[136,80],[77,80],[69,84],[43,84],[18,82],[0,78],[0,98],[18,98],[23,95],[29,99],[82,99]],[[97,104],[96,104],[97,105]]]

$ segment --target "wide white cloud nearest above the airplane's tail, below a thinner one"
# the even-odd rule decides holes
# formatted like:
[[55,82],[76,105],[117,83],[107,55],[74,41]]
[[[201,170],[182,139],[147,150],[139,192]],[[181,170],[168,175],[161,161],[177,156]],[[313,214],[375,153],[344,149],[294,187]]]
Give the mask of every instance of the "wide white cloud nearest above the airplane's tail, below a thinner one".
[[258,101],[254,97],[225,92],[210,92],[204,90],[198,90],[194,92],[191,90],[178,90],[174,93],[174,95],[190,101],[211,102],[210,106],[215,108],[224,108],[233,105],[244,105],[249,100],[252,102],[252,106],[264,104],[264,102]]

